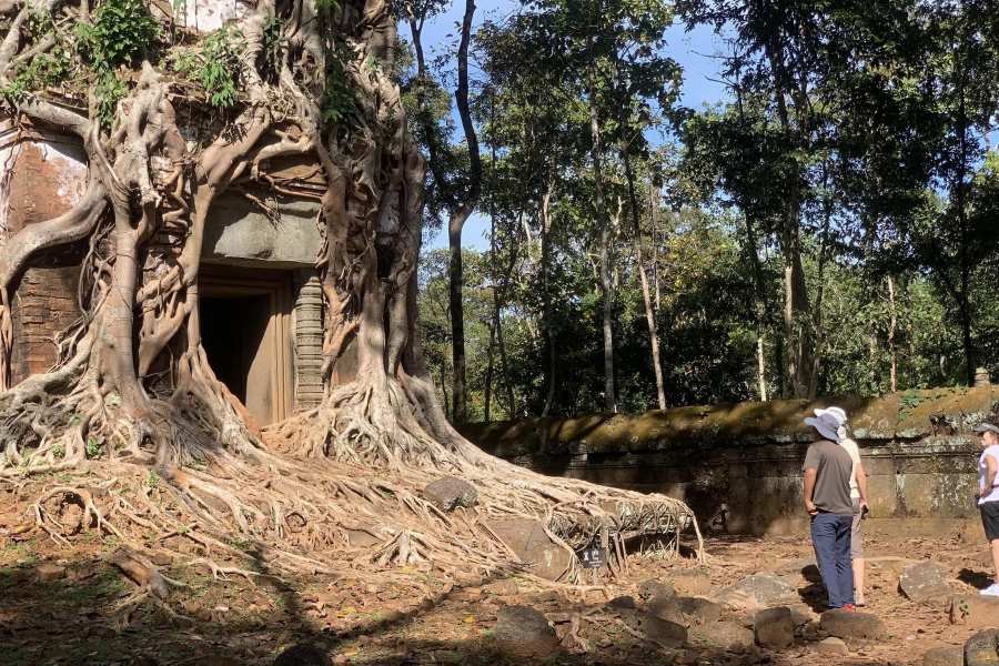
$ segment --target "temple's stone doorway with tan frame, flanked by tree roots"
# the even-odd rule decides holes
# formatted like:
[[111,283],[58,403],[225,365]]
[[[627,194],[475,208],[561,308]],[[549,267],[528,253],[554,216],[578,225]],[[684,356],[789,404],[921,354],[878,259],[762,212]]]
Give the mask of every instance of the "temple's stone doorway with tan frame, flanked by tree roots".
[[209,363],[259,425],[292,412],[292,271],[204,265],[199,280]]

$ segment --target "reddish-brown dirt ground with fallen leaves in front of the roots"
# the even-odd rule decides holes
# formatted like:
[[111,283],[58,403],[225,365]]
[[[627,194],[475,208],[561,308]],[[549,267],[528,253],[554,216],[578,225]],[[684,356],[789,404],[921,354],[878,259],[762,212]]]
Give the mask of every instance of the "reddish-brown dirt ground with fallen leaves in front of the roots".
[[[377,577],[359,573],[356,578],[282,581],[244,562],[238,564],[258,575],[216,578],[198,563],[210,554],[186,548],[184,558],[155,562],[183,586],[173,587],[162,606],[145,599],[130,608],[135,586],[108,563],[118,547],[113,537],[84,531],[69,545],[54,543],[24,527],[24,507],[14,496],[0,493],[3,665],[269,665],[300,642],[322,646],[336,664],[921,664],[929,648],[962,645],[976,628],[951,625],[942,602],[906,601],[897,592],[901,568],[932,558],[950,572],[953,592],[966,594],[977,594],[988,573],[983,545],[959,533],[869,538],[869,609],[886,623],[888,639],[851,645],[848,655],[819,654],[815,640],[821,635],[813,624],[779,653],[753,648],[708,654],[648,644],[603,608],[619,595],[637,599],[638,583],[648,578],[674,582],[684,594],[713,597],[749,574],[795,572],[811,556],[804,535],[712,538],[706,566],[690,557],[633,555],[626,578],[596,587],[567,587],[527,575],[455,581],[428,565]],[[182,537],[169,538],[180,543]],[[815,582],[805,575],[790,579],[803,603],[819,607]],[[582,617],[583,644],[566,640],[569,649],[534,662],[505,654],[494,630],[497,613],[512,604],[544,613],[559,636],[571,630],[569,618]],[[726,609],[723,617],[751,622],[746,612]],[[999,617],[993,626],[999,626]]]

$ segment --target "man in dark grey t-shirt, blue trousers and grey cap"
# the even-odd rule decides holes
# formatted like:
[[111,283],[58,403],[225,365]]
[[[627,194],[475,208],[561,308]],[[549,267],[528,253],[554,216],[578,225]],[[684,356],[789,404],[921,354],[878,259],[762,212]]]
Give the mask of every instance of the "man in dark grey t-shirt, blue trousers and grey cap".
[[805,423],[817,431],[805,454],[805,511],[811,516],[811,544],[829,595],[830,608],[854,607],[854,571],[850,564],[850,528],[854,505],[850,474],[854,460],[835,441],[838,420],[816,410]]

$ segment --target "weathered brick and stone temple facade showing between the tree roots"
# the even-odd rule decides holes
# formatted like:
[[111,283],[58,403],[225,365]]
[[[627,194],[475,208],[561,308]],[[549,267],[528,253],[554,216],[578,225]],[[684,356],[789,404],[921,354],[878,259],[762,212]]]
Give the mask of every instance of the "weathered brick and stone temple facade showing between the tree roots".
[[[189,20],[214,27],[226,16],[209,11],[219,6],[224,3],[192,4]],[[231,4],[228,13],[236,10]],[[314,262],[322,242],[317,193],[324,184],[314,163],[292,159],[270,164],[268,178],[270,189],[248,182],[213,203],[198,285],[209,360],[258,425],[317,404],[323,392],[322,294]],[[9,119],[0,123],[3,238],[69,211],[84,195],[87,179],[83,150],[73,138]],[[56,363],[60,333],[81,316],[80,265],[89,249],[84,239],[40,253],[16,279],[13,384]],[[340,379],[349,369],[350,360],[339,365]]]

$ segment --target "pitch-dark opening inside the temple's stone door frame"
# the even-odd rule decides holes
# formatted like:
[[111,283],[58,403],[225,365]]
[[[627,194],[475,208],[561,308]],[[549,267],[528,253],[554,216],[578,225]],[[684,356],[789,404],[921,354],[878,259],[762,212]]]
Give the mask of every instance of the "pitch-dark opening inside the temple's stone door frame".
[[215,376],[246,404],[251,370],[259,361],[271,319],[269,294],[202,296],[201,341]]

